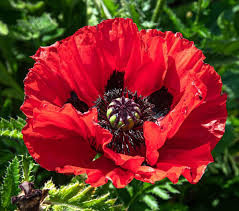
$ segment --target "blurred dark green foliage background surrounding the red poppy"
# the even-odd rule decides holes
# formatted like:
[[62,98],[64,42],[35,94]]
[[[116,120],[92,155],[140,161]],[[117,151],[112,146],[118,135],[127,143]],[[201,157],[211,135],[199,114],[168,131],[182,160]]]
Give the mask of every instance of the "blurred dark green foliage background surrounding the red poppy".
[[[129,210],[238,210],[238,0],[0,0],[0,178],[15,155],[27,153],[19,107],[24,99],[23,79],[33,66],[29,56],[39,46],[113,17],[132,18],[139,29],[181,32],[194,41],[222,77],[223,91],[228,94],[228,120],[225,135],[213,151],[215,162],[197,185],[181,180],[175,186],[166,180],[156,184],[157,191],[147,192],[156,186],[133,181],[121,190],[107,185],[112,196]],[[37,187],[51,177],[57,185],[71,179],[37,165],[33,171]]]

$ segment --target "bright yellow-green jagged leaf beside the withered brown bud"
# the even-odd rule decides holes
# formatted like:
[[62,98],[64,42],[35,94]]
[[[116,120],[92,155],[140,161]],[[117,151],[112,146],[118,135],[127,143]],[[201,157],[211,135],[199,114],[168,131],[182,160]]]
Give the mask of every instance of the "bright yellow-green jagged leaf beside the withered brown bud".
[[53,210],[118,210],[121,207],[115,205],[116,199],[110,198],[110,193],[95,194],[97,188],[85,183],[74,182],[57,189],[48,181],[44,189],[50,189],[46,204]]

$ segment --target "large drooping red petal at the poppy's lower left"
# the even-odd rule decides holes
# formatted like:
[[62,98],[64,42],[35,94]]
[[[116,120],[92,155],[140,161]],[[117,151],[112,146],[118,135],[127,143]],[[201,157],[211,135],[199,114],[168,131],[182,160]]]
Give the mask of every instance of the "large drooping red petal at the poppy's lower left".
[[127,161],[124,164],[126,169],[104,155],[94,161],[96,151],[92,149],[91,141],[97,135],[97,139],[104,142],[101,132],[105,131],[94,123],[96,120],[95,108],[81,114],[71,104],[59,108],[43,102],[34,109],[33,119],[29,119],[23,129],[24,142],[32,157],[48,170],[75,175],[86,173],[86,182],[95,187],[108,180],[117,188],[125,187],[133,179],[133,172],[127,170]]

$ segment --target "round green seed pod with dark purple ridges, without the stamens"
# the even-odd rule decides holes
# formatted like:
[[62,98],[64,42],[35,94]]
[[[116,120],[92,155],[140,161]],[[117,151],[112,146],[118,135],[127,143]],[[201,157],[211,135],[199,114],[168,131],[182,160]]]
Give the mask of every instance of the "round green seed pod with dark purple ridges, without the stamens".
[[139,122],[141,111],[138,104],[123,96],[108,105],[106,116],[113,128],[130,130]]

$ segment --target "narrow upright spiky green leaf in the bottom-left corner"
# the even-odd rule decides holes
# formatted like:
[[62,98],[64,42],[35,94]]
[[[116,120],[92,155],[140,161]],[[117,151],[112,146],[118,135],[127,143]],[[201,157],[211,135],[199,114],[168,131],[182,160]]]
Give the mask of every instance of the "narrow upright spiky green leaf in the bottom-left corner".
[[13,205],[11,205],[11,197],[16,196],[20,190],[18,188],[19,180],[19,160],[15,157],[9,164],[1,185],[0,198],[2,208],[10,210],[10,208],[13,207]]

